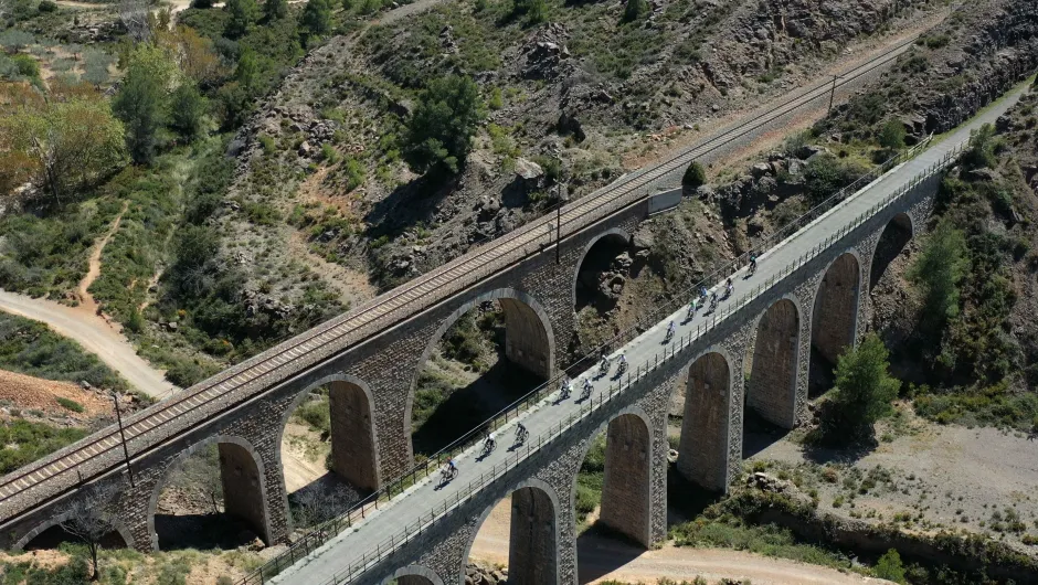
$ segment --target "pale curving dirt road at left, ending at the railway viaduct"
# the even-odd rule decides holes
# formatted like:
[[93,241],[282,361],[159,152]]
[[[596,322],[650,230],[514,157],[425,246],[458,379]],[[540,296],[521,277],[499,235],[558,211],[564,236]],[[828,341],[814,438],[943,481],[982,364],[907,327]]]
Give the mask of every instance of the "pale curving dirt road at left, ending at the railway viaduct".
[[162,372],[137,355],[134,347],[103,318],[80,308],[65,307],[52,300],[34,299],[0,290],[0,310],[35,319],[62,336],[78,342],[86,351],[118,372],[138,391],[153,397],[176,392]]

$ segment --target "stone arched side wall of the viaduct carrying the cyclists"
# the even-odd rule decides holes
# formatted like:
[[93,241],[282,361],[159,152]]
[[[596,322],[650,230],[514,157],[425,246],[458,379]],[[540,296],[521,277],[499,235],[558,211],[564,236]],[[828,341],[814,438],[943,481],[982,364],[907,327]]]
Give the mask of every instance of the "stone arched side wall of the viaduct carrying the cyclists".
[[[892,202],[876,215],[867,219],[860,225],[850,230],[843,237],[822,249],[816,256],[807,259],[791,273],[777,280],[772,287],[737,309],[731,316],[697,338],[690,345],[676,351],[674,357],[665,360],[648,375],[639,380],[634,386],[626,390],[617,398],[605,403],[599,411],[587,415],[572,428],[558,436],[552,443],[522,461],[519,467],[510,469],[487,487],[464,500],[462,504],[428,526],[423,533],[414,536],[403,544],[395,553],[372,566],[367,573],[353,583],[377,584],[392,575],[394,567],[412,564],[431,567],[444,583],[463,583],[464,565],[472,540],[481,523],[481,518],[492,506],[515,489],[528,486],[531,481],[549,486],[558,498],[557,508],[557,546],[559,554],[558,583],[576,583],[575,559],[575,528],[574,528],[574,497],[572,486],[576,472],[586,453],[587,443],[593,440],[597,432],[607,425],[611,419],[631,407],[638,406],[649,413],[654,421],[653,447],[653,486],[652,496],[652,533],[654,539],[665,535],[666,514],[666,413],[670,393],[679,384],[685,384],[690,365],[696,359],[713,352],[730,357],[728,364],[733,383],[728,393],[724,407],[728,408],[729,419],[727,428],[721,436],[727,438],[727,445],[719,447],[727,456],[716,459],[718,466],[714,470],[703,472],[712,483],[719,483],[721,489],[738,477],[741,470],[742,454],[742,379],[744,370],[743,360],[746,355],[746,344],[752,339],[751,329],[775,301],[784,297],[798,300],[801,307],[813,307],[823,276],[833,262],[840,255],[851,252],[861,263],[861,277],[859,278],[859,299],[868,298],[868,270],[879,234],[887,223],[899,213],[909,213],[915,225],[922,225],[926,214],[933,205],[933,196],[940,184],[941,177],[932,177],[915,185],[910,192]],[[764,259],[763,262],[766,262]],[[866,323],[869,309],[867,302],[857,305],[857,320]],[[795,412],[797,419],[806,416],[807,360],[812,331],[812,315],[804,310],[799,325],[799,358],[797,359]],[[864,326],[856,328],[857,336],[865,331]],[[738,375],[737,375],[738,374]],[[723,444],[723,440],[722,440]],[[681,459],[688,457],[685,450],[686,440],[682,433],[682,451],[679,454],[678,467]],[[727,447],[727,449],[725,449]],[[707,483],[703,481],[703,483]],[[707,485],[707,487],[716,487]]]

